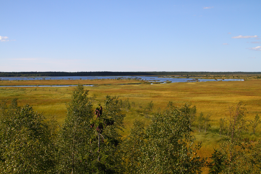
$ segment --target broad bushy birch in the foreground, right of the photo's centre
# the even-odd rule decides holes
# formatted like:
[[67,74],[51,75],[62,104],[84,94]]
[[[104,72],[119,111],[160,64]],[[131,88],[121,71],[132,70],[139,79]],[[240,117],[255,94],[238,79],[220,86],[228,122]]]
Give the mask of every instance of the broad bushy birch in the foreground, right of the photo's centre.
[[191,131],[189,104],[155,114],[146,128],[140,173],[201,173],[205,159],[197,156],[201,145]]

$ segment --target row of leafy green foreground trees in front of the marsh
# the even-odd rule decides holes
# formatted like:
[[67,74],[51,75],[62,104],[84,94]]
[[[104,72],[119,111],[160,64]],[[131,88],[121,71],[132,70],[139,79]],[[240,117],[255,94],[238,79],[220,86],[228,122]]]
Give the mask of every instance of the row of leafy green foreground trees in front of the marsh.
[[[2,100],[1,172],[201,173],[208,167],[209,173],[260,173],[261,142],[243,137],[249,125],[242,102],[230,107],[230,114],[222,119],[224,141],[207,158],[197,155],[201,143],[191,134],[194,106],[169,102],[162,112],[153,114],[147,127],[135,120],[128,136],[122,137],[125,115],[120,101],[107,95],[104,106],[99,102],[93,111],[88,90],[78,85],[59,126],[55,117],[46,120],[29,105],[17,106],[17,99],[9,106]],[[124,109],[129,106],[128,99],[122,103]],[[146,108],[151,107],[149,102]],[[200,131],[207,129],[206,117],[197,118],[203,120],[198,121]]]

